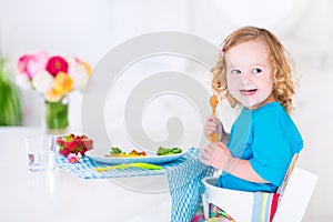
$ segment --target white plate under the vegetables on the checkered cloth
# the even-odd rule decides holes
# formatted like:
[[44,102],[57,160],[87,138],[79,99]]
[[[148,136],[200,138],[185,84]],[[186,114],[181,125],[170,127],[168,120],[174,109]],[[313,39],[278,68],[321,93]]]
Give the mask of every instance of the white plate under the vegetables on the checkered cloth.
[[[104,152],[108,153],[108,152]],[[145,155],[145,157],[137,157],[137,158],[112,158],[112,157],[105,157],[105,154],[101,154],[101,152],[94,152],[93,150],[90,152],[87,152],[87,155],[92,158],[97,162],[107,163],[107,164],[122,164],[122,163],[135,163],[135,162],[142,162],[142,163],[152,163],[152,164],[160,164],[160,163],[167,163],[174,160],[180,159],[186,153],[186,151],[183,150],[182,153],[173,154],[173,155]]]

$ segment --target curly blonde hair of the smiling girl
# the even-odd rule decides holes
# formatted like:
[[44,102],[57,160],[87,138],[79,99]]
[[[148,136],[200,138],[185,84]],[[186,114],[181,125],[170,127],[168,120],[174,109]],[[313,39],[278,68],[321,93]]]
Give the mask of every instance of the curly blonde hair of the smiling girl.
[[287,113],[292,111],[292,97],[295,92],[295,81],[292,74],[293,62],[289,52],[279,39],[266,29],[243,27],[232,32],[221,44],[221,53],[216,64],[210,70],[213,74],[212,89],[220,97],[225,98],[231,107],[240,104],[228,90],[225,52],[232,47],[248,41],[263,42],[269,50],[269,63],[273,79],[273,95]]

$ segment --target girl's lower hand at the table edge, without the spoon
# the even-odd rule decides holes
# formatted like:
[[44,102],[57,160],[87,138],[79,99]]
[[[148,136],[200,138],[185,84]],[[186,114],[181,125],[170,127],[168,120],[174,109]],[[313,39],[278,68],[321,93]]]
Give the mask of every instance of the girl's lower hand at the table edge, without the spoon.
[[200,161],[205,165],[223,170],[232,160],[230,150],[222,142],[210,143],[201,153]]

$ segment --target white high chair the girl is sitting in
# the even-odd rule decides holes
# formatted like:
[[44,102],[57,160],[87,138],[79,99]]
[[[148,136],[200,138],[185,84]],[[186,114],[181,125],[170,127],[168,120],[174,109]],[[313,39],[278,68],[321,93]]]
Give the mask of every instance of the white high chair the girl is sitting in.
[[[294,169],[294,162],[286,173],[285,183],[281,186],[281,196],[273,222],[301,222],[319,180],[316,174],[300,168]],[[218,188],[216,180],[218,178],[214,176],[202,180],[205,188],[202,194],[204,218],[209,218],[209,204],[213,203],[236,222],[251,222],[254,193]]]

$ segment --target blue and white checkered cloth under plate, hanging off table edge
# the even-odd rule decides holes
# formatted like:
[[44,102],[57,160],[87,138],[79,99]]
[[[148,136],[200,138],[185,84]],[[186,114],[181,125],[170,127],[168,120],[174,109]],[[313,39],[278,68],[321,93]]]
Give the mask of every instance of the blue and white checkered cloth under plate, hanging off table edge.
[[140,175],[167,174],[172,198],[172,222],[190,221],[196,211],[198,202],[203,192],[201,179],[213,174],[213,169],[199,161],[200,151],[190,149],[182,158],[162,164],[163,170],[144,170],[129,168],[97,172],[94,168],[104,164],[95,163],[93,159],[83,157],[79,163],[69,163],[67,158],[57,155],[56,165],[83,179],[127,178]]

